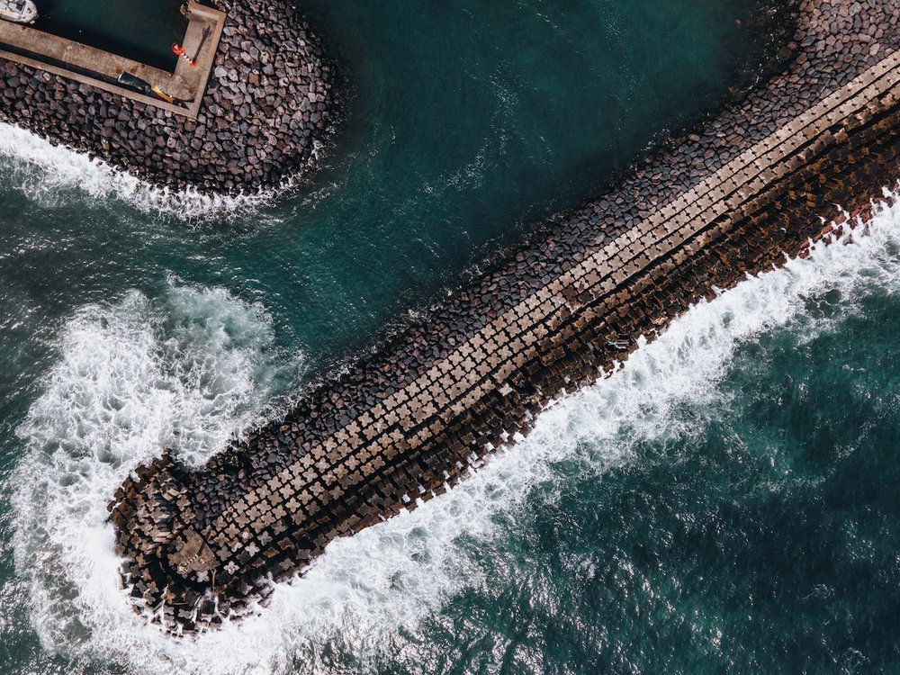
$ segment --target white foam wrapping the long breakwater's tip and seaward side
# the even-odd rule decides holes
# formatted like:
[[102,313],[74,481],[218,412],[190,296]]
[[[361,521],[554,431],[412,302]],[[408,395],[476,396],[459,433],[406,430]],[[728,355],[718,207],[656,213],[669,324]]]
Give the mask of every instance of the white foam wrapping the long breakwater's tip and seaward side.
[[[183,347],[170,354],[145,328],[139,296],[85,311],[23,428],[31,455],[19,474],[17,553],[31,578],[34,623],[50,648],[140,673],[367,671],[385,650],[415,653],[404,635],[482,582],[472,547],[461,542],[490,547],[501,534],[498,515],[536,486],[563,490],[554,463],[577,459],[600,473],[635,459],[642,439],[687,433],[673,411],[712,401],[743,341],[798,318],[809,296],[838,289],[851,298],[863,284],[900,291],[900,206],[880,208],[864,234],[817,245],[804,260],[699,303],[617,373],[545,410],[527,439],[454,491],[332,543],[302,579],[280,584],[258,616],[184,641],[131,616],[116,588],[103,504],[130,466],[163,446],[200,459],[228,435],[236,410],[257,405],[240,402],[258,385],[250,375],[256,347],[235,356],[221,341],[199,340],[186,350],[191,356]],[[821,329],[811,314],[803,318]],[[204,324],[211,334],[215,322]],[[200,393],[202,377],[184,376],[194,359],[202,372],[236,364],[223,368],[215,396]],[[184,431],[176,437],[175,428]]]

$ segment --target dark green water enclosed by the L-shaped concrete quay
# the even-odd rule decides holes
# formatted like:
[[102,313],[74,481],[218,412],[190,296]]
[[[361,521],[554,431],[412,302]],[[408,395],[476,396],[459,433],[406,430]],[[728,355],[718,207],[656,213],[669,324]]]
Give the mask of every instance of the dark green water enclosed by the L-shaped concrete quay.
[[174,71],[173,42],[184,41],[181,0],[39,0],[35,28]]

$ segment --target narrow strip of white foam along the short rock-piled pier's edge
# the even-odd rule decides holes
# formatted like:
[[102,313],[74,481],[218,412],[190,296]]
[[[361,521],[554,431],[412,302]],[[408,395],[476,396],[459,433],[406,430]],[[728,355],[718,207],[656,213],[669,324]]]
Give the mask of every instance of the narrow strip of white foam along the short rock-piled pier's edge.
[[44,206],[57,205],[73,197],[81,199],[87,194],[97,200],[121,200],[139,211],[164,213],[184,220],[255,212],[290,187],[235,196],[201,194],[192,188],[168,190],[3,122],[0,122],[0,169],[10,176],[5,183],[14,184]]

